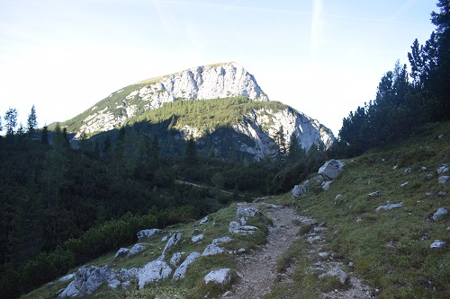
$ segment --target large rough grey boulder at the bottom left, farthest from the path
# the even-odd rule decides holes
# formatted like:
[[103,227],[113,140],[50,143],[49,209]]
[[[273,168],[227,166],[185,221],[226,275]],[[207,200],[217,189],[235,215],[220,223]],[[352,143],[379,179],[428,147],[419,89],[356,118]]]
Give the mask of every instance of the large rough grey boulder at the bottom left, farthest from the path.
[[93,294],[105,282],[115,279],[117,271],[104,266],[103,268],[91,266],[78,268],[74,280],[66,287],[59,297],[83,297]]

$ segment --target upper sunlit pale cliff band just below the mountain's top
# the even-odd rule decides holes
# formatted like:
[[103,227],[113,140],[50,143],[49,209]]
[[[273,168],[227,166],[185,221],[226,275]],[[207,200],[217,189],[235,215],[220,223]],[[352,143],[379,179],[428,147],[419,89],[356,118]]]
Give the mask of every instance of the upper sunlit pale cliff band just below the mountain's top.
[[103,105],[95,105],[82,120],[78,136],[83,131],[92,134],[121,127],[127,119],[137,116],[139,111],[158,109],[165,102],[233,96],[269,101],[255,77],[237,63],[194,67],[174,75],[144,80],[113,92],[102,101]]

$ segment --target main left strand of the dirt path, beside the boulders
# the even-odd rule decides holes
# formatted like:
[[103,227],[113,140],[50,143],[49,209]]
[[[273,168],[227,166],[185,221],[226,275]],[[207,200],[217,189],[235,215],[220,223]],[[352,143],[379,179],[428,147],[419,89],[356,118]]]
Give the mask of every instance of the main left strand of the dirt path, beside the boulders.
[[[255,204],[254,207],[258,207]],[[302,217],[287,207],[275,207],[266,215],[274,226],[269,227],[267,244],[255,255],[239,259],[241,279],[230,292],[223,295],[227,299],[264,298],[270,292],[276,276],[276,261],[298,238]]]

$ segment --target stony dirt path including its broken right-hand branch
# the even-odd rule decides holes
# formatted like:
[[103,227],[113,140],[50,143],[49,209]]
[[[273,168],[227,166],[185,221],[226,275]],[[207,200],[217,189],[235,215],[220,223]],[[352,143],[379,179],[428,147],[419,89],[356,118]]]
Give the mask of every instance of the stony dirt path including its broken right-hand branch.
[[[267,204],[252,204],[252,207],[261,209],[261,206]],[[239,276],[241,279],[237,284],[232,286],[231,291],[222,295],[224,299],[262,299],[271,290],[274,285],[276,272],[276,263],[284,252],[298,238],[317,238],[320,242],[311,242],[313,249],[309,253],[311,259],[311,268],[320,268],[321,271],[327,269],[342,267],[343,264],[338,260],[328,259],[319,263],[314,263],[313,256],[320,254],[325,245],[321,234],[327,230],[325,227],[315,227],[311,233],[306,236],[298,236],[298,231],[303,224],[315,223],[314,219],[297,215],[296,212],[288,207],[277,207],[272,205],[270,210],[266,212],[266,216],[271,218],[274,226],[269,227],[267,243],[261,251],[257,251],[254,255],[245,255],[238,259]],[[327,254],[331,254],[327,253]],[[317,259],[316,259],[317,260]],[[312,265],[312,263],[314,263]],[[291,273],[292,274],[292,273]],[[284,283],[289,283],[292,278],[287,275],[283,278]],[[346,289],[336,290],[329,293],[319,295],[323,299],[352,299],[367,298],[369,295],[369,287],[365,286],[361,280],[349,275],[349,286]]]

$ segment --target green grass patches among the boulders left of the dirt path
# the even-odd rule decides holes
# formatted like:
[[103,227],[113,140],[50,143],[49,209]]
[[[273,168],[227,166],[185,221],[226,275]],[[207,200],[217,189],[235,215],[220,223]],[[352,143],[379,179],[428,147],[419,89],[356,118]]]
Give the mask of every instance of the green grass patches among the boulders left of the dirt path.
[[[189,224],[176,224],[167,227],[165,233],[157,233],[149,239],[141,240],[140,243],[147,246],[146,251],[139,252],[139,254],[132,257],[124,257],[115,259],[114,255],[119,250],[114,249],[108,254],[103,255],[98,259],[94,259],[88,264],[103,267],[109,265],[110,267],[120,270],[121,268],[140,268],[151,260],[157,259],[166,245],[166,241],[161,239],[169,232],[183,233],[181,240],[171,249],[166,251],[165,260],[168,263],[172,254],[175,252],[185,252],[184,258],[193,251],[202,253],[205,247],[211,244],[212,240],[229,235],[229,222],[236,219],[236,204],[231,204],[229,207],[222,208],[220,211],[209,215],[210,220],[203,225],[199,225],[199,221],[193,221]],[[248,224],[255,225],[259,228],[254,235],[241,236],[231,235],[231,242],[220,244],[220,248],[226,251],[237,251],[240,248],[245,248],[246,251],[257,250],[260,245],[266,243],[266,235],[268,233],[267,224],[271,224],[270,220],[264,215],[258,215],[248,220]],[[204,238],[202,242],[193,243],[191,238],[194,235],[202,233]],[[131,246],[130,246],[131,247]],[[129,248],[130,248],[129,247]],[[86,295],[86,299],[91,298],[121,298],[121,299],[137,299],[137,298],[200,298],[204,295],[220,295],[226,291],[226,287],[209,286],[203,282],[205,277],[211,270],[219,268],[232,269],[232,281],[236,281],[238,276],[236,274],[236,255],[218,254],[214,256],[200,257],[189,265],[186,272],[186,277],[182,281],[175,282],[171,277],[162,282],[149,283],[142,290],[138,290],[137,282],[134,282],[128,290],[119,288],[118,290],[111,290],[104,285],[97,290],[93,295]],[[76,272],[77,268],[72,269],[69,273]],[[174,268],[175,270],[175,268]],[[23,298],[53,298],[58,290],[65,288],[69,282],[58,283],[53,282],[51,286],[41,286],[39,289],[31,292],[29,295],[23,295]]]

